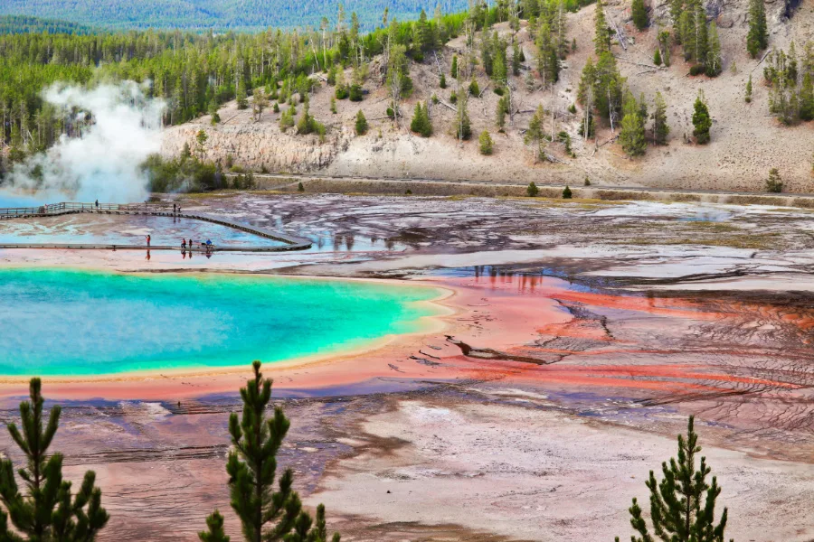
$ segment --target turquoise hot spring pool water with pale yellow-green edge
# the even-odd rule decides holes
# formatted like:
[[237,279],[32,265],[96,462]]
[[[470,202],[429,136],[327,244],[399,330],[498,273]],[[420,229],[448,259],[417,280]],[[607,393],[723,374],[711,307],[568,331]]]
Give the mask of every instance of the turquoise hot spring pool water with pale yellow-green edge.
[[248,366],[421,330],[433,288],[268,276],[0,269],[0,375]]

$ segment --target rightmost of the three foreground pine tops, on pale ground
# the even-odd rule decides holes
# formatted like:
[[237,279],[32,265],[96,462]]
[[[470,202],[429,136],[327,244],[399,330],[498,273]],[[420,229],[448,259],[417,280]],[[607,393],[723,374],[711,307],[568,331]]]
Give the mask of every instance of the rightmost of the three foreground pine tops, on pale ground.
[[[717,479],[706,482],[711,469],[706,458],[696,471],[696,454],[701,451],[698,435],[694,430],[694,417],[687,423],[686,438],[678,435],[678,457],[661,463],[664,478],[656,481],[653,471],[646,482],[650,490],[650,519],[655,537],[650,534],[647,521],[642,516],[639,502],[634,498],[629,508],[630,525],[640,537],[633,542],[651,542],[660,538],[664,542],[724,542],[727,509],[715,525],[715,500],[721,493]],[[619,537],[616,537],[619,542]]]

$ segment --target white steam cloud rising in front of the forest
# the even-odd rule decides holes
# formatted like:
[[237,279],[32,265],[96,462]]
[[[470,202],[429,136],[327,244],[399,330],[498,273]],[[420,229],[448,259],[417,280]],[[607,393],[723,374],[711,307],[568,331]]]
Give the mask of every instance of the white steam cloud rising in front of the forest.
[[133,81],[93,89],[57,83],[43,91],[43,99],[73,122],[90,115],[90,123],[79,137],[62,135],[44,153],[16,165],[9,178],[14,188],[54,200],[147,198],[149,179],[140,166],[161,148],[163,100],[147,98]]

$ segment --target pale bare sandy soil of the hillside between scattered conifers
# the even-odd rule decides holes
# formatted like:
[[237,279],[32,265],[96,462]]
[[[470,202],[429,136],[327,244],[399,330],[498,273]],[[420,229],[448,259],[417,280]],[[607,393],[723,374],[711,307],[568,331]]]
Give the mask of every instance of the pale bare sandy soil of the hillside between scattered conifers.
[[[567,14],[569,41],[577,41],[577,50],[563,62],[560,80],[552,89],[526,89],[525,73],[533,70],[535,44],[528,37],[527,23],[522,23],[516,39],[525,52],[522,73],[512,78],[515,89],[516,110],[512,123],[506,119],[505,134],[497,133],[495,111],[499,97],[488,88],[482,95],[469,98],[469,117],[475,136],[459,145],[454,136],[455,112],[450,107],[450,63],[453,55],[464,54],[463,37],[453,39],[438,51],[438,62],[430,56],[423,62],[412,62],[410,75],[414,84],[412,96],[402,102],[400,126],[384,112],[389,103],[388,89],[383,81],[371,77],[364,83],[368,95],[359,103],[336,100],[337,114],[331,114],[330,101],[333,88],[324,80],[315,89],[310,100],[312,115],[327,124],[327,141],[320,144],[314,135],[294,135],[280,132],[279,115],[267,110],[259,122],[253,122],[249,110],[240,111],[232,102],[220,111],[222,124],[210,126],[210,117],[170,128],[165,152],[177,154],[185,142],[190,142],[200,129],[209,135],[207,157],[213,160],[233,161],[244,167],[260,171],[305,173],[320,172],[334,175],[417,177],[442,179],[472,179],[485,181],[528,180],[535,182],[570,182],[582,184],[588,177],[592,183],[607,185],[642,185],[699,190],[764,190],[770,168],[780,170],[787,192],[812,192],[811,156],[814,153],[814,126],[782,126],[769,113],[769,89],[762,83],[762,62],[752,60],[744,48],[747,33],[747,2],[735,0],[722,5],[710,2],[708,14],[716,15],[718,33],[724,59],[723,72],[714,79],[705,75],[688,76],[689,65],[674,52],[671,67],[653,65],[653,51],[657,42],[658,24],[651,24],[644,32],[637,32],[630,22],[629,4],[611,2],[606,6],[609,23],[618,23],[628,42],[624,49],[614,40],[612,52],[618,60],[620,73],[634,96],[644,94],[652,108],[656,91],[667,101],[670,137],[668,145],[648,146],[644,156],[629,158],[614,142],[609,126],[600,124],[598,142],[586,142],[578,135],[582,107],[577,113],[568,108],[576,100],[582,68],[593,56],[594,6]],[[784,49],[792,40],[801,44],[814,38],[814,13],[803,4],[790,19],[786,5],[775,2],[767,5],[770,28],[770,47]],[[667,5],[651,10],[656,21],[669,24]],[[507,23],[498,23],[496,30],[509,38]],[[478,41],[478,40],[476,40]],[[370,73],[379,72],[380,58],[371,62]],[[733,68],[734,66],[734,68]],[[450,81],[450,88],[440,89],[439,70]],[[753,79],[753,99],[746,104],[743,92],[749,75]],[[346,70],[345,79],[351,78]],[[476,69],[481,89],[489,85],[481,66]],[[324,78],[323,78],[324,79]],[[712,140],[708,145],[691,141],[693,102],[698,90],[703,90],[713,118]],[[422,138],[409,132],[413,107],[419,101],[431,101],[437,95],[441,101],[431,105],[434,134]],[[524,133],[535,107],[542,104],[546,111],[554,110],[554,129],[550,117],[545,131],[567,132],[572,138],[576,157],[565,154],[559,143],[547,146],[556,163],[534,164],[533,153],[524,145]],[[282,105],[284,111],[287,106]],[[353,121],[358,109],[364,111],[371,129],[367,135],[355,136]],[[495,153],[478,153],[478,137],[488,130],[495,141]],[[685,136],[686,135],[686,136]]]

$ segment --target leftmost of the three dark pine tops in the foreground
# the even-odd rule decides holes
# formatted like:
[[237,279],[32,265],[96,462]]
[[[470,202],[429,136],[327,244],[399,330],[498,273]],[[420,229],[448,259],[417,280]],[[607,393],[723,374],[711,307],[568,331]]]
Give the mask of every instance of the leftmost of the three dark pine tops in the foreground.
[[[26,458],[26,466],[16,474],[28,488],[24,495],[17,487],[14,463],[0,461],[0,539],[8,542],[92,542],[108,523],[109,515],[101,508],[101,490],[95,486],[96,473],[85,472],[80,491],[71,499],[71,482],[62,480],[62,453],[49,454],[53,436],[60,422],[60,406],[53,406],[43,429],[42,382],[32,378],[30,401],[20,403],[20,422],[8,425],[14,444]],[[14,530],[10,530],[11,519]]]

